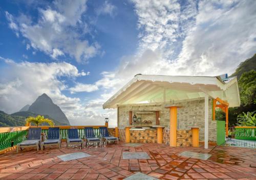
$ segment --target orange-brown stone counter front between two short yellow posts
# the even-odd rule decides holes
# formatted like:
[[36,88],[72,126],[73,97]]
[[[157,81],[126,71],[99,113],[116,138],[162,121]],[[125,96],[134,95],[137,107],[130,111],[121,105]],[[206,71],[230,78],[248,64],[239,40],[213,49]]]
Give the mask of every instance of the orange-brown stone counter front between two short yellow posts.
[[130,130],[131,143],[157,143],[157,130]]

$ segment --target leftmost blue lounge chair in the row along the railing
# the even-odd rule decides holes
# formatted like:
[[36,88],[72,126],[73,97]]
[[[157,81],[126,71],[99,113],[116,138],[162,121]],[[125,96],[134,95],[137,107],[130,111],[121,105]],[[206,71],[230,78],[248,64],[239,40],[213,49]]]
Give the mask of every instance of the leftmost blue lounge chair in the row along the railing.
[[40,143],[41,143],[41,128],[40,127],[29,128],[27,140],[23,140],[23,142],[17,144],[17,152],[19,148],[22,150],[22,147],[31,147],[31,146],[36,146],[38,151],[40,148]]

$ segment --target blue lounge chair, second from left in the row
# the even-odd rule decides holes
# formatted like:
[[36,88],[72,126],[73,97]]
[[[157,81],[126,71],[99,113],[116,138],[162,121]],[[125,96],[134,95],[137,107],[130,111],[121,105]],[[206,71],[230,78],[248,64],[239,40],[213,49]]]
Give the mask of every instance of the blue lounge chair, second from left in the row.
[[41,143],[41,148],[45,146],[51,146],[57,144],[59,148],[61,147],[61,134],[59,134],[59,127],[49,127],[47,139]]

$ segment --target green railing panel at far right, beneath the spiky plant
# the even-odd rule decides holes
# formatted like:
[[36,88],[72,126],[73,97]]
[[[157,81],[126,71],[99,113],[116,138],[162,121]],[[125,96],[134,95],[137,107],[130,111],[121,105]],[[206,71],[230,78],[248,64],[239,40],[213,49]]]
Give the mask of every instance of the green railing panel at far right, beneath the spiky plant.
[[256,128],[236,128],[235,139],[256,140]]

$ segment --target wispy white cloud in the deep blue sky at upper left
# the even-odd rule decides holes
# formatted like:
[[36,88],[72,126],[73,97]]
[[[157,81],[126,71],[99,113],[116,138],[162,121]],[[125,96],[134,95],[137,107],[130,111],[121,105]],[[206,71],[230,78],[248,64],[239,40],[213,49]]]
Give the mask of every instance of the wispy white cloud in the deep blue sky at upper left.
[[86,2],[56,0],[47,8],[38,9],[36,22],[24,14],[18,16],[16,22],[8,12],[6,17],[9,27],[26,37],[33,49],[45,52],[54,59],[68,54],[77,62],[86,63],[100,49],[96,41],[89,42],[82,38],[84,33],[88,33],[88,24],[81,19],[87,9]]

